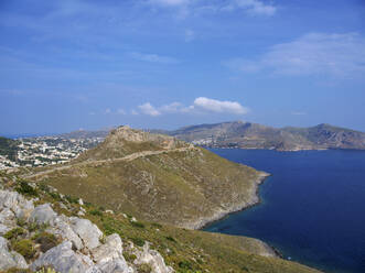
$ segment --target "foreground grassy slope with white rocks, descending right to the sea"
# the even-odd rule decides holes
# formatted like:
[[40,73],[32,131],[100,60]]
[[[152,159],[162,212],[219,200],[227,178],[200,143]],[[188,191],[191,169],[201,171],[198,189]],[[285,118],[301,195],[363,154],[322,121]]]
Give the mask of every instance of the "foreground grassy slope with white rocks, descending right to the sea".
[[318,272],[244,237],[137,220],[0,173],[0,272]]

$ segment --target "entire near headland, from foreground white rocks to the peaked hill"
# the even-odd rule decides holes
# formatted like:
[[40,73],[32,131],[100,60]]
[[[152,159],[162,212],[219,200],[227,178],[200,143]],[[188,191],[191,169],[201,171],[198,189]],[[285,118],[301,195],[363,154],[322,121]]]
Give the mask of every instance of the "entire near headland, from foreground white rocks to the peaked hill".
[[265,176],[172,136],[118,128],[69,163],[0,172],[0,271],[319,272],[257,239],[186,229],[257,203]]

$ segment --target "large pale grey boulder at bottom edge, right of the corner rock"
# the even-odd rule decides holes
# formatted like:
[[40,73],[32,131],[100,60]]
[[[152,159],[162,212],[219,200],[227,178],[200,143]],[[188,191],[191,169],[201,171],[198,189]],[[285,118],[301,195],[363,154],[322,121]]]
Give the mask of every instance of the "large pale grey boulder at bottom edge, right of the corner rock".
[[69,241],[50,249],[32,263],[31,270],[35,271],[42,266],[51,266],[60,273],[98,272],[96,269],[93,269],[94,263],[88,256],[75,253],[72,250],[72,242]]

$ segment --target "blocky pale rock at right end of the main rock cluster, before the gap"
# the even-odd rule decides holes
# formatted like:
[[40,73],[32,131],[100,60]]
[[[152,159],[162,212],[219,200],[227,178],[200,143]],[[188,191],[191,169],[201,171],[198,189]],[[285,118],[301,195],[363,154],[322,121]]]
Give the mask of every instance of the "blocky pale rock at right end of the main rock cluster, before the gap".
[[106,238],[106,243],[99,245],[92,251],[94,261],[97,263],[106,263],[115,259],[122,259],[122,242],[116,233]]

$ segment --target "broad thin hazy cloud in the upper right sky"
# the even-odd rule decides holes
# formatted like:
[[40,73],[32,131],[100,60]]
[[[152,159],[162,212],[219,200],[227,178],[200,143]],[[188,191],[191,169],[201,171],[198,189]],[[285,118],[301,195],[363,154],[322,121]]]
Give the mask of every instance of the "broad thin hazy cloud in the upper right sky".
[[234,58],[225,64],[244,73],[361,76],[365,74],[365,39],[356,33],[310,33],[273,45],[257,59]]

